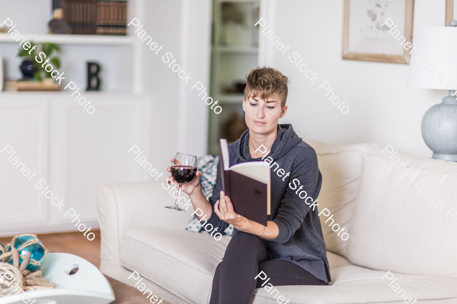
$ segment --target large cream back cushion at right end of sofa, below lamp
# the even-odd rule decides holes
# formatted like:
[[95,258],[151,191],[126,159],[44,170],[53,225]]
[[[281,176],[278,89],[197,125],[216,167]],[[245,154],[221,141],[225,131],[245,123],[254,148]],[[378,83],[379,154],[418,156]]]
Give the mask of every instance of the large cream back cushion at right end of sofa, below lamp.
[[375,270],[457,278],[456,184],[457,163],[381,149],[369,153],[348,259]]

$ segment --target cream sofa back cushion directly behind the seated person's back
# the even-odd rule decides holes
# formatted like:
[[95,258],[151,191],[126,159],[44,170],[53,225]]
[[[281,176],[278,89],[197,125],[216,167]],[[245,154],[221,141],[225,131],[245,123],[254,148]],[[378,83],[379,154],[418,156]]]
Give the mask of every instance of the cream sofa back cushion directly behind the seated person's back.
[[[360,183],[360,174],[365,155],[378,149],[373,143],[361,144],[325,144],[306,140],[317,154],[319,170],[322,174],[322,188],[318,197],[317,207],[322,226],[322,234],[327,250],[346,256],[348,241],[352,237],[351,217],[354,210],[355,198]],[[324,216],[328,214],[328,216]],[[333,214],[333,217],[332,217]],[[330,218],[330,219],[329,219]],[[325,221],[327,220],[327,223]],[[330,226],[329,226],[330,224]],[[332,226],[338,224],[343,233],[348,233],[349,239],[343,240],[338,231],[332,231]],[[334,226],[334,230],[338,225]],[[343,237],[346,239],[346,236]]]

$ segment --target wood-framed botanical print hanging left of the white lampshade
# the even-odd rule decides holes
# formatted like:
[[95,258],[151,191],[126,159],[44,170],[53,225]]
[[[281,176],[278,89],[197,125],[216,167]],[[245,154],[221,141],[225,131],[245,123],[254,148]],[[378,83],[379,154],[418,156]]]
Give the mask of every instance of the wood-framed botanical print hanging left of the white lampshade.
[[344,0],[343,59],[409,64],[413,0]]

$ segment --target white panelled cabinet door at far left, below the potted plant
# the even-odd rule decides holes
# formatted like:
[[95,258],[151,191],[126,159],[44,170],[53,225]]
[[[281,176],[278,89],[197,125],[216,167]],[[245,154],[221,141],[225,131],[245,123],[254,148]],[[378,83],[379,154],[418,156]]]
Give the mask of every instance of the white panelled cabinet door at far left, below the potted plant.
[[0,99],[0,233],[48,221],[47,200],[35,187],[48,177],[48,108],[46,98]]

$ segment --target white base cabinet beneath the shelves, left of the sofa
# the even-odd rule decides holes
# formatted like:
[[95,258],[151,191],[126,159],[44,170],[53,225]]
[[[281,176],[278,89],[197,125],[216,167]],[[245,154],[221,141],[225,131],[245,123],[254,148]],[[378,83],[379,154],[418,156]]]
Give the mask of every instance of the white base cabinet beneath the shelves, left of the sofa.
[[0,97],[0,236],[76,231],[79,223],[95,229],[101,185],[150,179],[127,153],[134,144],[151,146],[150,100],[85,96],[92,114],[67,94]]

